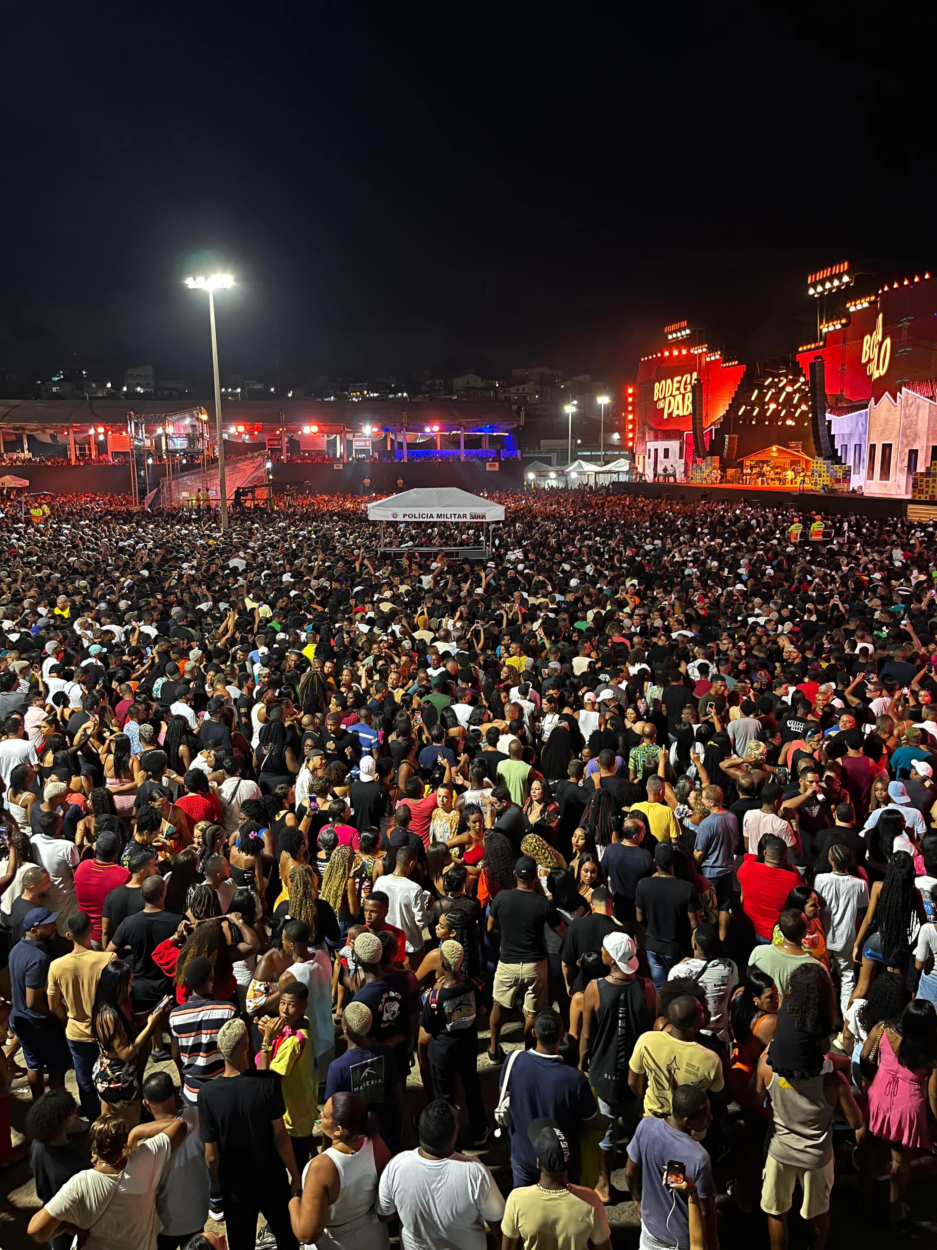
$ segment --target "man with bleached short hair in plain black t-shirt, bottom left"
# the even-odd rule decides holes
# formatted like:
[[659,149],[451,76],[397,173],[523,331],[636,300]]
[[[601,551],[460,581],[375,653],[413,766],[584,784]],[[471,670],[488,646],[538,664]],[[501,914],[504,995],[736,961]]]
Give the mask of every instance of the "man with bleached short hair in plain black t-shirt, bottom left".
[[254,1250],[261,1211],[280,1250],[297,1250],[290,1225],[290,1192],[300,1192],[301,1180],[284,1125],[280,1078],[254,1070],[249,1045],[247,1028],[240,1018],[222,1025],[217,1049],[225,1071],[199,1091],[199,1132],[211,1174],[211,1212],[226,1221],[231,1250]]

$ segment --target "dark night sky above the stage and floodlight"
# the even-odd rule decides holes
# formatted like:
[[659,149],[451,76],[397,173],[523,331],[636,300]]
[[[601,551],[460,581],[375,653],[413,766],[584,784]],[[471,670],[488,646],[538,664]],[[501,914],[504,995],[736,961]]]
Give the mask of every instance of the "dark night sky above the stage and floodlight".
[[926,32],[901,12],[9,8],[0,366],[207,376],[181,280],[215,265],[239,280],[222,374],[271,374],[275,328],[285,382],[620,380],[685,316],[731,354],[791,350],[811,268],[937,262]]

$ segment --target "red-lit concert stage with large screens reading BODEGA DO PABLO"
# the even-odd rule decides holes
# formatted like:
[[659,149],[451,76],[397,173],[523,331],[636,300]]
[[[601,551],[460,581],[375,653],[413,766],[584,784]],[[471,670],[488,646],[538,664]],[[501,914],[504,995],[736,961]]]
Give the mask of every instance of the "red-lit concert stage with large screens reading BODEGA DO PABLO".
[[665,328],[623,392],[628,439],[633,398],[638,469],[648,481],[676,466],[678,481],[743,485],[745,462],[770,444],[810,459],[806,490],[932,504],[937,280],[930,270],[886,278],[838,261],[808,275],[805,298],[816,336],[748,365],[725,360],[698,326]]

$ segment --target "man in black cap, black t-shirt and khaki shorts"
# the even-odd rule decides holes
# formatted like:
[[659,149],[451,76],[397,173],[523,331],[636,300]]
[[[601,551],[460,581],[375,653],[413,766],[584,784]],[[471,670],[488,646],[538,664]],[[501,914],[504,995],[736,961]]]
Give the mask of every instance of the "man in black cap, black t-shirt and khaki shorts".
[[566,922],[550,899],[535,891],[537,861],[521,855],[515,864],[517,889],[501,890],[488,908],[488,932],[501,934],[491,1005],[488,1062],[503,1062],[498,1044],[503,1009],[512,1011],[523,998],[523,1035],[533,1032],[533,1019],[547,1002],[547,958],[543,925],[562,936]]

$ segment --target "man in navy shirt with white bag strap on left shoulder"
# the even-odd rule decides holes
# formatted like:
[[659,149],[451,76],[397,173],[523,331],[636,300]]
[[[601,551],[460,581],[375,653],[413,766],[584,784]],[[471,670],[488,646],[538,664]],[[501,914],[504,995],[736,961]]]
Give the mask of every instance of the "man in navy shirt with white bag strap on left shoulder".
[[546,1115],[560,1125],[570,1142],[567,1168],[571,1184],[580,1179],[580,1125],[603,1122],[585,1072],[568,1068],[560,1055],[562,1020],[545,1008],[533,1021],[535,1050],[515,1051],[502,1070],[511,1100],[511,1172],[515,1186],[536,1185],[540,1179],[537,1154],[527,1136],[527,1125]]

